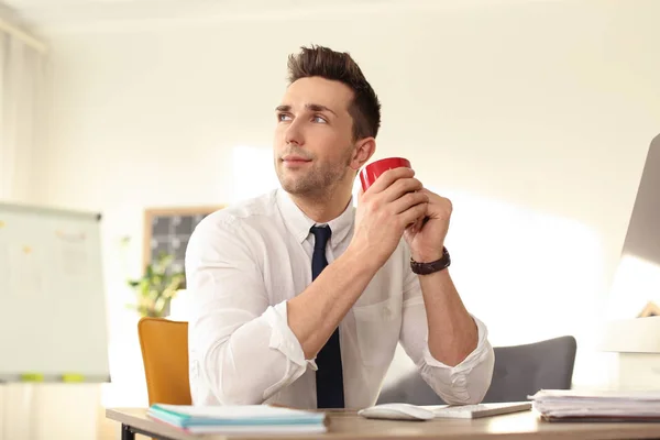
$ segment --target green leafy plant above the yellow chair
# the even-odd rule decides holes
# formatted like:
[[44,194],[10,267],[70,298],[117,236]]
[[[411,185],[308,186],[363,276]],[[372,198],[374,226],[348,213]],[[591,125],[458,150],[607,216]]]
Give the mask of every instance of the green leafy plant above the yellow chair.
[[185,282],[184,272],[170,270],[174,255],[161,253],[150,263],[144,275],[138,279],[129,279],[136,302],[129,305],[138,310],[141,317],[164,318],[169,315],[169,305]]

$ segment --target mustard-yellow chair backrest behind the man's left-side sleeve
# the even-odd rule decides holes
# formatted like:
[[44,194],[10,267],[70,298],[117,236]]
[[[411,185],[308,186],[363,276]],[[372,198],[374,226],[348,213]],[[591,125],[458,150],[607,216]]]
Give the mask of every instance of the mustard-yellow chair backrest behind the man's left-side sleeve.
[[188,322],[142,318],[138,334],[148,404],[190,405]]

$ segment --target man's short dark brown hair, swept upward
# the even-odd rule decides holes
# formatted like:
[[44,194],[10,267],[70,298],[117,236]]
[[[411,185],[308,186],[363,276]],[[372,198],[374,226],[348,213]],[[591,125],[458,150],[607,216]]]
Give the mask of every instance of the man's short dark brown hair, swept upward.
[[375,138],[381,127],[381,102],[358,63],[346,52],[317,45],[300,48],[300,53],[288,57],[289,85],[314,76],[345,84],[353,90],[353,102],[349,106],[353,138]]

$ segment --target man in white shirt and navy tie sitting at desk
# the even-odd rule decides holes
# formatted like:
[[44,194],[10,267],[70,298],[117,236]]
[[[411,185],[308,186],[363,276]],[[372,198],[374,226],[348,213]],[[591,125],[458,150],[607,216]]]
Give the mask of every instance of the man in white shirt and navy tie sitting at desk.
[[345,53],[302,48],[288,69],[282,188],[207,217],[187,249],[194,403],[371,406],[399,341],[446,402],[481,402],[494,355],[446,267],[450,201],[397,168],[355,209],[378,99]]

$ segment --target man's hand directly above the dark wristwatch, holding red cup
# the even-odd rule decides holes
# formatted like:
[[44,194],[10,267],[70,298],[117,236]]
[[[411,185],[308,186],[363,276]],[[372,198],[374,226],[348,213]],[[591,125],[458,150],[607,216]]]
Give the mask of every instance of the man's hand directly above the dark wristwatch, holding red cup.
[[405,239],[410,246],[410,256],[420,263],[431,263],[442,257],[444,238],[449,231],[452,212],[451,201],[444,197],[422,188],[429,202],[426,204],[424,219],[406,229]]

